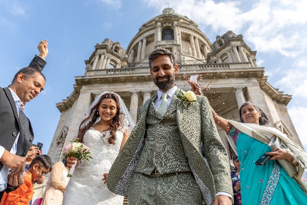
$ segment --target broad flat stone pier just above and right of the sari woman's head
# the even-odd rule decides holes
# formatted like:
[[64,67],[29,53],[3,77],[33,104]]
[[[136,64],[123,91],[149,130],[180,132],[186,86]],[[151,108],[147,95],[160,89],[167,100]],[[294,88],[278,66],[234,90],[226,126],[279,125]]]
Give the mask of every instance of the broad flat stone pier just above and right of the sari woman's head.
[[249,100],[251,102],[256,103],[267,114],[269,118],[269,124],[267,126],[274,127],[274,123],[272,121],[272,117],[270,115],[269,108],[267,106],[266,100],[262,94],[262,90],[259,84],[254,85],[254,86],[248,86],[247,90],[248,90]]

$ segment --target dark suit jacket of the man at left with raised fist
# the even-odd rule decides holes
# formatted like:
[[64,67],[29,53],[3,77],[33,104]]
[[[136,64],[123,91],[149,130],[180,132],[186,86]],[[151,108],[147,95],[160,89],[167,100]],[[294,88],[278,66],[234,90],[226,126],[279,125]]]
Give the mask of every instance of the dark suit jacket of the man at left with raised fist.
[[[46,62],[35,56],[28,67],[33,67],[41,72]],[[0,145],[10,151],[18,136],[17,155],[25,157],[33,142],[34,134],[29,119],[22,111],[18,112],[9,88],[0,87]],[[3,164],[0,163],[0,170]]]

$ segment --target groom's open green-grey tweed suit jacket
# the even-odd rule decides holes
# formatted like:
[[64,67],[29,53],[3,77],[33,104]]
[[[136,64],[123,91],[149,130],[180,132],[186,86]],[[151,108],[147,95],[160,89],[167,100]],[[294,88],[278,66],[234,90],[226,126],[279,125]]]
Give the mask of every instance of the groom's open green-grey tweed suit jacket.
[[[178,89],[175,95],[178,95],[179,91],[183,90]],[[139,121],[110,169],[107,186],[115,194],[128,195],[144,146],[147,113],[150,103],[156,97],[157,94],[154,94],[139,108]],[[184,151],[200,188],[203,204],[210,205],[217,192],[233,193],[227,151],[218,135],[206,97],[197,96],[196,102],[188,102],[187,106],[179,106],[179,101],[176,103],[177,125]],[[201,141],[209,166],[201,154]]]

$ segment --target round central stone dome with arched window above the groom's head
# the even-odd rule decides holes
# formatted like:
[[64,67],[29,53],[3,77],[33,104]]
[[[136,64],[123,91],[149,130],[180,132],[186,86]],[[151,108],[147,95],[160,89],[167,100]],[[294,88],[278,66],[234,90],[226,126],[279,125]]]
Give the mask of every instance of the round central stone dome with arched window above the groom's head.
[[172,51],[178,62],[205,60],[211,42],[194,21],[166,8],[139,28],[127,48],[129,63],[148,62],[150,53],[161,47]]

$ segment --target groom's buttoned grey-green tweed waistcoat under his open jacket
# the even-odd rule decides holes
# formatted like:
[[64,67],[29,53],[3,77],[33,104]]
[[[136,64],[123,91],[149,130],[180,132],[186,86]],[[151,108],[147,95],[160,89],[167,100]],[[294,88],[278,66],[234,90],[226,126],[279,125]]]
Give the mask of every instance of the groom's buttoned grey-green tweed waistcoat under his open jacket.
[[174,101],[175,97],[164,116],[151,102],[146,118],[145,144],[134,172],[150,175],[154,168],[159,174],[191,171],[177,126]]

